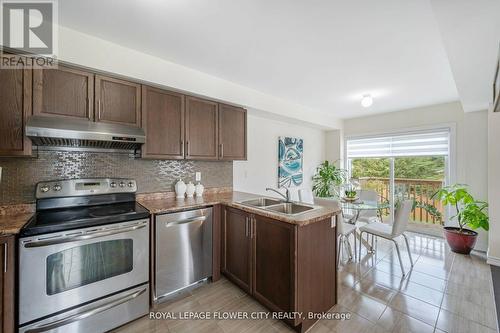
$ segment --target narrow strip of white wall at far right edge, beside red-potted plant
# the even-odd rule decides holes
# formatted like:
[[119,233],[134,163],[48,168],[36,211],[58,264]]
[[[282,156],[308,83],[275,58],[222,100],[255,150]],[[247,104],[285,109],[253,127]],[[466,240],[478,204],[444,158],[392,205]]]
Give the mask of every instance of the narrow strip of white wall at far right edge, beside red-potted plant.
[[488,263],[500,266],[500,113],[488,112]]

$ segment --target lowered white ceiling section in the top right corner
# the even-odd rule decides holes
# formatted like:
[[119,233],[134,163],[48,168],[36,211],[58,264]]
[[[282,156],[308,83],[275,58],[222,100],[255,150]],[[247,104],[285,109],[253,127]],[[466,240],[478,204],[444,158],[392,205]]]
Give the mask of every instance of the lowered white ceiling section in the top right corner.
[[432,0],[465,111],[489,107],[500,42],[500,0]]

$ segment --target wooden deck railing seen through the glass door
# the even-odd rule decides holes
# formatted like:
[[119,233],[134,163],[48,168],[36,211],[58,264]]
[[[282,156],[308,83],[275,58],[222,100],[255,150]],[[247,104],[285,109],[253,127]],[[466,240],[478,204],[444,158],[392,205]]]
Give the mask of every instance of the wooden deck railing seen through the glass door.
[[[361,177],[359,178],[361,188],[372,189],[377,191],[382,200],[388,200],[390,197],[390,181],[389,178],[383,177]],[[444,207],[440,201],[432,198],[441,187],[443,181],[427,180],[427,179],[394,179],[394,194],[396,198],[402,197],[405,199],[413,199],[422,204],[429,204],[444,215]],[[414,222],[423,222],[431,224],[443,224],[443,221],[430,214],[423,207],[416,207],[411,215]]]

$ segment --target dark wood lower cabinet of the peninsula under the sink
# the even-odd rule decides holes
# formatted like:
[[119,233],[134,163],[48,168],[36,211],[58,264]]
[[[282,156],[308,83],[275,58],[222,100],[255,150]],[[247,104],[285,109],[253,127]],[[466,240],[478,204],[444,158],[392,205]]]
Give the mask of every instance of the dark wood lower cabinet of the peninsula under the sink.
[[[284,321],[305,332],[337,303],[333,218],[298,226],[224,207],[221,271]],[[302,313],[292,318],[293,313]]]

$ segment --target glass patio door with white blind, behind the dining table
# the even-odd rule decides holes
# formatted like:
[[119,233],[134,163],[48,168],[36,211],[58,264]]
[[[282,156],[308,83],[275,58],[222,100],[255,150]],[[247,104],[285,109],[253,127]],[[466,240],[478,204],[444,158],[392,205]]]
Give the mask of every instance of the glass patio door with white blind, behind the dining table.
[[[409,198],[433,205],[444,214],[432,195],[448,182],[449,155],[449,129],[346,140],[350,177],[359,179],[363,189],[377,191],[381,200],[388,200],[392,212],[399,200]],[[439,221],[420,206],[412,212],[413,221]]]

